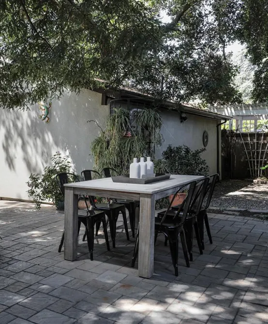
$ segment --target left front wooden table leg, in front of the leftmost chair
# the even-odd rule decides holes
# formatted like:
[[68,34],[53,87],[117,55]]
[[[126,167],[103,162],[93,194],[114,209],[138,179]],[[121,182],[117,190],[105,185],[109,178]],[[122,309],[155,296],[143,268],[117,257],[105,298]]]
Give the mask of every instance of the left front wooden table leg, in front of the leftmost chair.
[[73,188],[65,187],[64,196],[64,259],[74,261],[77,258],[78,195]]

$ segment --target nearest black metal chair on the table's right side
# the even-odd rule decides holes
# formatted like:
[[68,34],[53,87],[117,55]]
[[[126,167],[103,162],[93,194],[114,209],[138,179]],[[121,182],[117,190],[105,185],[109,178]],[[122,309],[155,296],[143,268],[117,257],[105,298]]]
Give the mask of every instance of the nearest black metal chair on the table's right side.
[[[179,190],[176,192],[176,194],[173,196],[171,202],[169,203],[167,210],[164,211],[164,214],[159,213],[155,217],[154,243],[156,242],[157,235],[159,233],[163,233],[164,236],[168,239],[172,263],[175,269],[175,276],[178,276],[179,237],[183,249],[186,266],[190,267],[187,244],[186,244],[185,233],[184,233],[184,223],[186,217],[189,215],[188,213],[191,206],[191,201],[193,199],[195,185],[196,185],[196,181],[193,181],[189,185],[183,185],[182,187],[180,187]],[[179,206],[179,209],[177,211],[172,210],[171,206],[176,195],[186,188],[188,189],[188,191],[185,200]],[[180,215],[182,208],[183,208],[183,213],[182,215]],[[170,217],[171,215],[170,213],[172,213],[173,217]],[[135,261],[138,256],[138,246],[139,246],[139,227],[138,227],[136,241],[135,241],[134,254],[132,258],[132,267],[134,267]]]

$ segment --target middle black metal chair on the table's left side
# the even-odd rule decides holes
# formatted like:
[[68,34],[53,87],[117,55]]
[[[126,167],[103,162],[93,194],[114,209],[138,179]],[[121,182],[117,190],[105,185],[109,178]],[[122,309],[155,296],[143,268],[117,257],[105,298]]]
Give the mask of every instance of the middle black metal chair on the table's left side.
[[[81,175],[86,181],[88,181],[92,180],[92,173],[97,174],[99,177],[101,176],[100,173],[95,170],[83,170]],[[119,213],[122,213],[127,240],[129,240],[126,209],[123,204],[114,203],[113,201],[110,203],[96,203],[94,196],[89,196],[89,202],[93,209],[104,212],[108,217],[113,247],[115,247],[116,223]],[[100,225],[101,224],[96,224],[96,236],[98,235]]]

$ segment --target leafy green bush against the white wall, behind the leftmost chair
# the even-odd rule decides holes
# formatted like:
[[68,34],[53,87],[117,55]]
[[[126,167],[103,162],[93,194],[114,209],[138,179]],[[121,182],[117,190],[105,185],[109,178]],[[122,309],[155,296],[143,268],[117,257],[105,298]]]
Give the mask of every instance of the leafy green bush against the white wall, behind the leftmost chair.
[[44,169],[43,174],[31,173],[27,185],[29,196],[33,198],[36,208],[40,209],[42,201],[53,202],[57,209],[64,209],[64,201],[55,181],[56,174],[71,171],[69,156],[61,156],[59,152],[51,157],[51,166]]

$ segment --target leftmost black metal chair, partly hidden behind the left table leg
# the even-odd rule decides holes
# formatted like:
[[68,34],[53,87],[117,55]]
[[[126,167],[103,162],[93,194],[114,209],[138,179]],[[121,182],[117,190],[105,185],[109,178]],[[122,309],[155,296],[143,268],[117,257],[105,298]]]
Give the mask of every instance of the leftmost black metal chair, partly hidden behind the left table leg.
[[[76,174],[70,173],[70,172],[58,173],[55,176],[55,181],[56,181],[57,185],[60,188],[60,192],[62,194],[63,199],[64,199],[64,193],[65,193],[64,184],[68,184],[70,182],[70,178],[72,178],[71,181],[73,181],[73,182],[79,182],[80,181],[80,179],[78,178],[78,176]],[[93,260],[94,226],[95,226],[95,224],[97,226],[97,224],[103,223],[106,246],[107,246],[107,250],[110,251],[110,245],[109,245],[109,239],[108,239],[108,233],[107,233],[107,227],[106,227],[106,221],[105,221],[105,214],[103,212],[89,210],[89,206],[88,206],[88,203],[86,201],[85,196],[79,197],[78,201],[79,200],[84,200],[85,201],[86,207],[87,207],[87,215],[78,215],[78,233],[77,233],[77,236],[79,235],[81,223],[83,223],[85,225],[85,228],[86,228],[86,232],[85,232],[84,236],[87,236],[89,253],[90,253],[90,260],[92,261]],[[59,252],[61,251],[63,242],[64,242],[64,230],[63,230],[62,235],[61,235]]]

